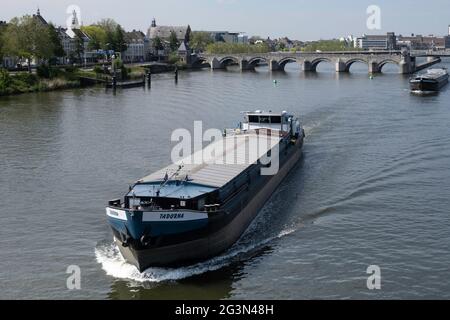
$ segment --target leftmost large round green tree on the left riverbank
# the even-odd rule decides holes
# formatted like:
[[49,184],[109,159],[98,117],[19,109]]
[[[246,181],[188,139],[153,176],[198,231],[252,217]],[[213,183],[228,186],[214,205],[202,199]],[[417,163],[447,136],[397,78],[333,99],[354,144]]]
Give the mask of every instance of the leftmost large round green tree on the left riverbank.
[[49,60],[54,54],[54,45],[48,26],[29,15],[14,18],[3,35],[4,52],[28,60],[31,72],[31,60]]

